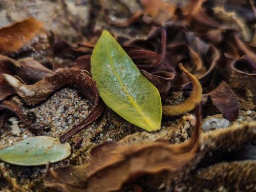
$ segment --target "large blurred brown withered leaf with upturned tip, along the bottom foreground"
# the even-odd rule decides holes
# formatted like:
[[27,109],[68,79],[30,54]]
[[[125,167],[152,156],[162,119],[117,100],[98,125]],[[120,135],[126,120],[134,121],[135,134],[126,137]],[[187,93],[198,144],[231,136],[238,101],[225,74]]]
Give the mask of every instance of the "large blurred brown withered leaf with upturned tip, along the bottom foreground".
[[[123,145],[106,142],[92,150],[90,163],[49,169],[46,186],[65,191],[118,190],[130,179],[163,170],[175,173],[194,158],[199,144],[200,110],[196,110],[197,123],[191,138],[182,144],[154,142]],[[66,174],[67,173],[67,174]],[[67,177],[72,174],[74,177]],[[100,184],[99,184],[100,183]]]

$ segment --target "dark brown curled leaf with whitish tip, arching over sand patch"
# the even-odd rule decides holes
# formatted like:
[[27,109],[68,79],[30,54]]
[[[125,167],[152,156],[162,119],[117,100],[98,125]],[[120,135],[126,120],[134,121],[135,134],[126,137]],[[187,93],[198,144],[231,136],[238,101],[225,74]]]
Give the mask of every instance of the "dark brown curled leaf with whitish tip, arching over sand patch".
[[[37,104],[46,100],[53,92],[65,85],[73,86],[76,84],[83,98],[89,98],[93,103],[93,109],[89,116],[73,129],[62,136],[62,142],[84,128],[88,123],[96,120],[104,109],[104,105],[99,102],[99,94],[96,88],[96,82],[80,69],[60,68],[52,76],[45,76],[42,80],[32,85],[26,85],[20,82],[12,75],[3,75],[8,83],[16,90],[16,93],[23,98],[27,104]],[[83,126],[84,125],[84,126]]]

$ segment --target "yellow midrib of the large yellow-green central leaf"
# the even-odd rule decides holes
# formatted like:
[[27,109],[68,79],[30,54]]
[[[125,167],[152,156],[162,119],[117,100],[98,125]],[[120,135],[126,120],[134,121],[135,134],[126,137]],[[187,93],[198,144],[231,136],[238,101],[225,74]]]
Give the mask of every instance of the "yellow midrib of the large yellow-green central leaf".
[[[112,69],[114,75],[116,76],[117,81],[118,81],[118,83],[120,84],[120,86],[121,86],[123,92],[125,93],[126,97],[131,101],[131,104],[134,106],[134,108],[138,111],[138,113],[139,113],[139,114],[143,117],[143,119],[146,121],[146,123],[147,123],[150,127],[152,127],[152,125],[153,125],[152,121],[151,121],[149,118],[147,118],[147,117],[145,116],[145,114],[142,112],[142,110],[139,108],[139,105],[136,103],[134,97],[129,94],[129,92],[128,92],[127,89],[125,88],[124,84],[122,83],[121,78],[119,77],[118,73],[116,72],[115,67],[114,67],[114,64],[113,64],[112,59],[111,59],[109,47],[106,48],[106,49],[107,49],[108,58],[109,58],[109,61],[110,61],[110,67],[111,67],[111,69]],[[154,129],[154,127],[153,127],[153,129]]]

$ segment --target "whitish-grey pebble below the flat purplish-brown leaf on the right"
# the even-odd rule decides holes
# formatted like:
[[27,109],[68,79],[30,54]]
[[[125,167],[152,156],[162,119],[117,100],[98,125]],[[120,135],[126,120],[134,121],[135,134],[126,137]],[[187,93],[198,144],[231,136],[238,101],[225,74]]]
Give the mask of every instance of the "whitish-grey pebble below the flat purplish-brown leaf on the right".
[[207,132],[209,130],[219,129],[222,127],[227,127],[229,125],[229,120],[225,118],[210,117],[206,118],[202,124],[202,130]]

